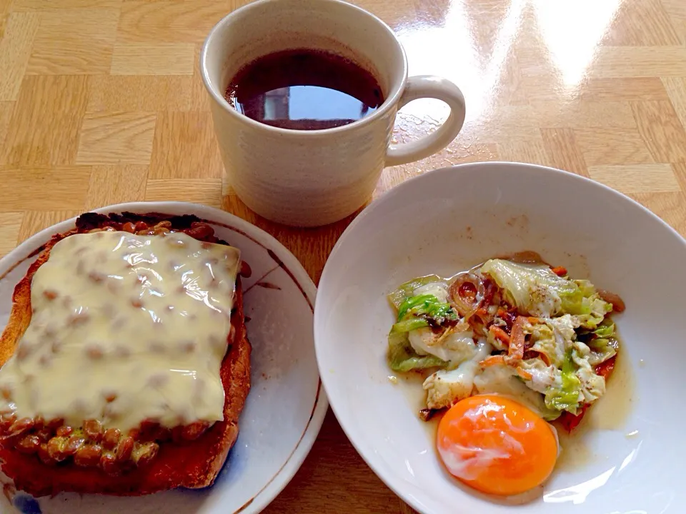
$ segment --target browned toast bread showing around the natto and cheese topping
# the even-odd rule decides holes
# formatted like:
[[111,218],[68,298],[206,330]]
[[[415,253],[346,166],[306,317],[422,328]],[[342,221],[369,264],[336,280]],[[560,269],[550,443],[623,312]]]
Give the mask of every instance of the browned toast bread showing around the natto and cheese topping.
[[[59,234],[46,244],[37,260],[30,266],[26,276],[14,289],[13,306],[9,323],[0,337],[0,365],[12,356],[16,345],[31,321],[31,278],[42,263],[46,262],[50,249],[64,237],[74,233],[88,232],[92,228],[106,226],[109,221],[161,220],[172,222],[172,228],[189,228],[199,222],[194,216],[164,216],[149,214],[139,216],[130,213],[104,216],[87,213],[79,218],[74,231]],[[212,238],[217,241],[217,238]],[[217,241],[224,243],[224,241]],[[0,441],[2,471],[14,480],[18,490],[34,496],[54,495],[61,491],[77,493],[101,493],[109,495],[145,495],[172,488],[204,488],[214,483],[222,469],[229,450],[238,436],[238,418],[250,388],[250,352],[244,323],[243,299],[240,277],[237,277],[234,310],[231,316],[232,334],[229,348],[221,367],[224,385],[224,420],[214,423],[197,440],[189,443],[161,443],[154,460],[143,468],[136,468],[119,476],[104,473],[101,468],[82,468],[69,460],[58,465],[46,465],[36,455],[19,453]]]

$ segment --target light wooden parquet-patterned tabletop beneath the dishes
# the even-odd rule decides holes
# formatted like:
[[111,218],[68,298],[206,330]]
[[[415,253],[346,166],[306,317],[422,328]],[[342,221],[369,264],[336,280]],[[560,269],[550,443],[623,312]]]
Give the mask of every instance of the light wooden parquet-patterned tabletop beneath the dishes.
[[[456,141],[387,168],[377,195],[432,168],[527,161],[627,193],[686,234],[686,0],[361,0],[467,99]],[[279,238],[315,281],[347,221],[310,231],[256,218],[222,178],[198,74],[230,0],[0,0],[0,255],[81,211],[185,200]],[[447,116],[417,101],[404,141]],[[409,512],[329,413],[269,513]]]

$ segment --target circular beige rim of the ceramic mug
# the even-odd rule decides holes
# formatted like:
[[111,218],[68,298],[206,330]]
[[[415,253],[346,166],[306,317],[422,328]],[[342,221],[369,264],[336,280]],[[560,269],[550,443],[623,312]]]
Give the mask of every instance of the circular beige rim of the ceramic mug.
[[212,96],[212,99],[214,99],[214,101],[217,102],[217,104],[224,110],[224,112],[229,113],[229,116],[232,116],[232,118],[239,121],[239,123],[247,124],[248,126],[251,126],[254,129],[262,129],[272,133],[281,134],[283,136],[293,136],[295,134],[298,134],[298,136],[302,138],[316,138],[321,136],[329,136],[329,134],[353,131],[355,129],[358,129],[360,126],[372,124],[374,123],[374,121],[376,121],[379,118],[382,118],[385,114],[387,114],[387,112],[390,109],[392,109],[394,105],[397,105],[400,96],[402,96],[402,93],[404,91],[404,86],[407,83],[407,54],[405,53],[405,49],[403,48],[402,44],[400,44],[400,41],[398,40],[393,29],[391,29],[378,16],[375,16],[369,11],[362,9],[362,7],[350,4],[347,1],[309,0],[313,2],[319,2],[321,4],[339,4],[344,6],[346,9],[357,11],[357,14],[361,14],[362,16],[369,16],[369,18],[372,18],[379,25],[380,29],[382,29],[387,34],[389,34],[389,36],[391,36],[392,41],[394,41],[396,46],[399,48],[400,54],[402,56],[402,70],[400,71],[399,81],[395,81],[396,84],[394,84],[394,86],[392,87],[391,94],[389,94],[387,99],[384,100],[384,103],[381,104],[379,109],[374,111],[372,114],[369,114],[369,116],[364,116],[364,118],[353,121],[352,123],[333,127],[331,129],[317,129],[307,131],[297,129],[282,129],[281,127],[275,127],[260,123],[259,121],[255,121],[254,119],[251,119],[248,116],[245,116],[244,114],[240,114],[236,109],[232,108],[232,106],[229,105],[227,99],[224,98],[224,94],[219,94],[219,92],[217,92],[217,89],[215,89],[212,86],[209,80],[209,72],[207,71],[209,68],[209,64],[207,63],[207,54],[209,51],[209,47],[212,45],[212,41],[214,37],[219,33],[219,31],[226,29],[227,26],[232,24],[233,19],[239,13],[246,13],[254,9],[259,9],[265,4],[273,4],[279,1],[282,0],[257,0],[251,2],[250,4],[241,6],[238,9],[235,9],[234,11],[231,11],[229,14],[224,16],[221,20],[219,20],[217,24],[215,24],[214,27],[212,27],[212,30],[209,31],[209,34],[207,34],[207,38],[205,38],[205,42],[202,45],[202,51],[200,53],[200,74],[202,76],[202,81],[205,86],[205,89],[207,89],[210,96]]

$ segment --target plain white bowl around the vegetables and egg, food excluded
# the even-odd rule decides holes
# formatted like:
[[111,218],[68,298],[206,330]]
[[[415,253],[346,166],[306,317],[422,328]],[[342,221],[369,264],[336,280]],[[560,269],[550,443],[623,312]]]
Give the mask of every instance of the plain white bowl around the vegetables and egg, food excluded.
[[[627,311],[616,318],[625,371],[567,445],[577,464],[558,466],[542,495],[517,508],[452,480],[417,418],[421,392],[389,381],[384,357],[387,293],[521,250],[619,293]],[[319,373],[359,453],[422,513],[683,513],[685,263],[672,228],[585,178],[515,163],[432,171],[374,201],[334,247],[314,312]]]

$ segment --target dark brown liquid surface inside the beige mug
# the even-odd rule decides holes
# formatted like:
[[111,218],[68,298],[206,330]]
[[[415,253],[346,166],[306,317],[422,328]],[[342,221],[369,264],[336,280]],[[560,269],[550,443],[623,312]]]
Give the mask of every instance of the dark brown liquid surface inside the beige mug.
[[384,102],[369,71],[332,52],[313,49],[259,57],[238,71],[224,96],[249,118],[295,130],[347,125]]

